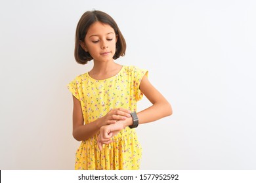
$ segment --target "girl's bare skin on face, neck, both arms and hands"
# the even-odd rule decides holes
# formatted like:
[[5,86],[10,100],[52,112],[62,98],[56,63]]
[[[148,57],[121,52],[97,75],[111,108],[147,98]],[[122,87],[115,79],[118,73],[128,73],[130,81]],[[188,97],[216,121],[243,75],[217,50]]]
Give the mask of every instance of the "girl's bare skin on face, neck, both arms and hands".
[[[114,62],[113,56],[116,52],[116,41],[118,36],[110,25],[95,22],[89,27],[85,41],[81,41],[80,45],[86,52],[89,52],[94,60],[93,69],[89,72],[92,78],[102,80],[116,75],[122,65]],[[156,88],[150,83],[148,78],[144,76],[140,82],[140,91],[152,103],[148,107],[137,113],[139,125],[148,122],[154,122],[172,114],[171,105],[161,95]],[[102,144],[109,144],[121,129],[132,125],[131,111],[125,108],[114,108],[103,116],[90,124],[83,124],[83,113],[81,103],[73,96],[73,136],[77,141],[85,141],[98,131],[98,147],[102,149]]]

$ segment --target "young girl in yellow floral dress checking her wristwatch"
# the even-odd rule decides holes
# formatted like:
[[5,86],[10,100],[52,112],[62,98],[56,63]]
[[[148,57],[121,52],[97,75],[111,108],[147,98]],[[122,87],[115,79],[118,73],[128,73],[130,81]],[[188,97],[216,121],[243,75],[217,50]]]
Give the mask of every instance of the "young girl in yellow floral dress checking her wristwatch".
[[[68,84],[74,101],[73,136],[82,141],[75,169],[139,169],[142,148],[135,127],[172,114],[171,105],[150,84],[148,71],[114,62],[125,49],[125,39],[108,14],[94,10],[81,16],[75,60],[86,64],[93,59],[94,65]],[[136,113],[142,95],[152,106]]]

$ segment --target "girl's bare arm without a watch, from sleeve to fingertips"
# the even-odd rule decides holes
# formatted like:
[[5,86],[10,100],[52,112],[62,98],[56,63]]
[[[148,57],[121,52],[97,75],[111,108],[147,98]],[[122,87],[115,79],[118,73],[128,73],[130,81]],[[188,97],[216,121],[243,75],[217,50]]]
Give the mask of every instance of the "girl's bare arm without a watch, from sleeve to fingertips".
[[[117,120],[125,120],[130,117],[130,111],[123,108],[110,110],[106,116],[98,118],[90,124],[83,124],[83,112],[80,101],[73,95],[73,137],[77,141],[85,141],[95,135],[103,125],[115,124]],[[125,117],[126,116],[126,117]]]

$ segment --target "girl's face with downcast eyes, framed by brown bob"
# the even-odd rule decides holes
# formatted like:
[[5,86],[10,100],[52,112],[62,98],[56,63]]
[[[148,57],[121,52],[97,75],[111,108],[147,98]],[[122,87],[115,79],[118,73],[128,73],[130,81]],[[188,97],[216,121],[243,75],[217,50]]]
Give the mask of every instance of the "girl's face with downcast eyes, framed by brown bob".
[[116,41],[117,35],[110,25],[95,22],[89,27],[81,46],[95,61],[110,61],[116,52]]

